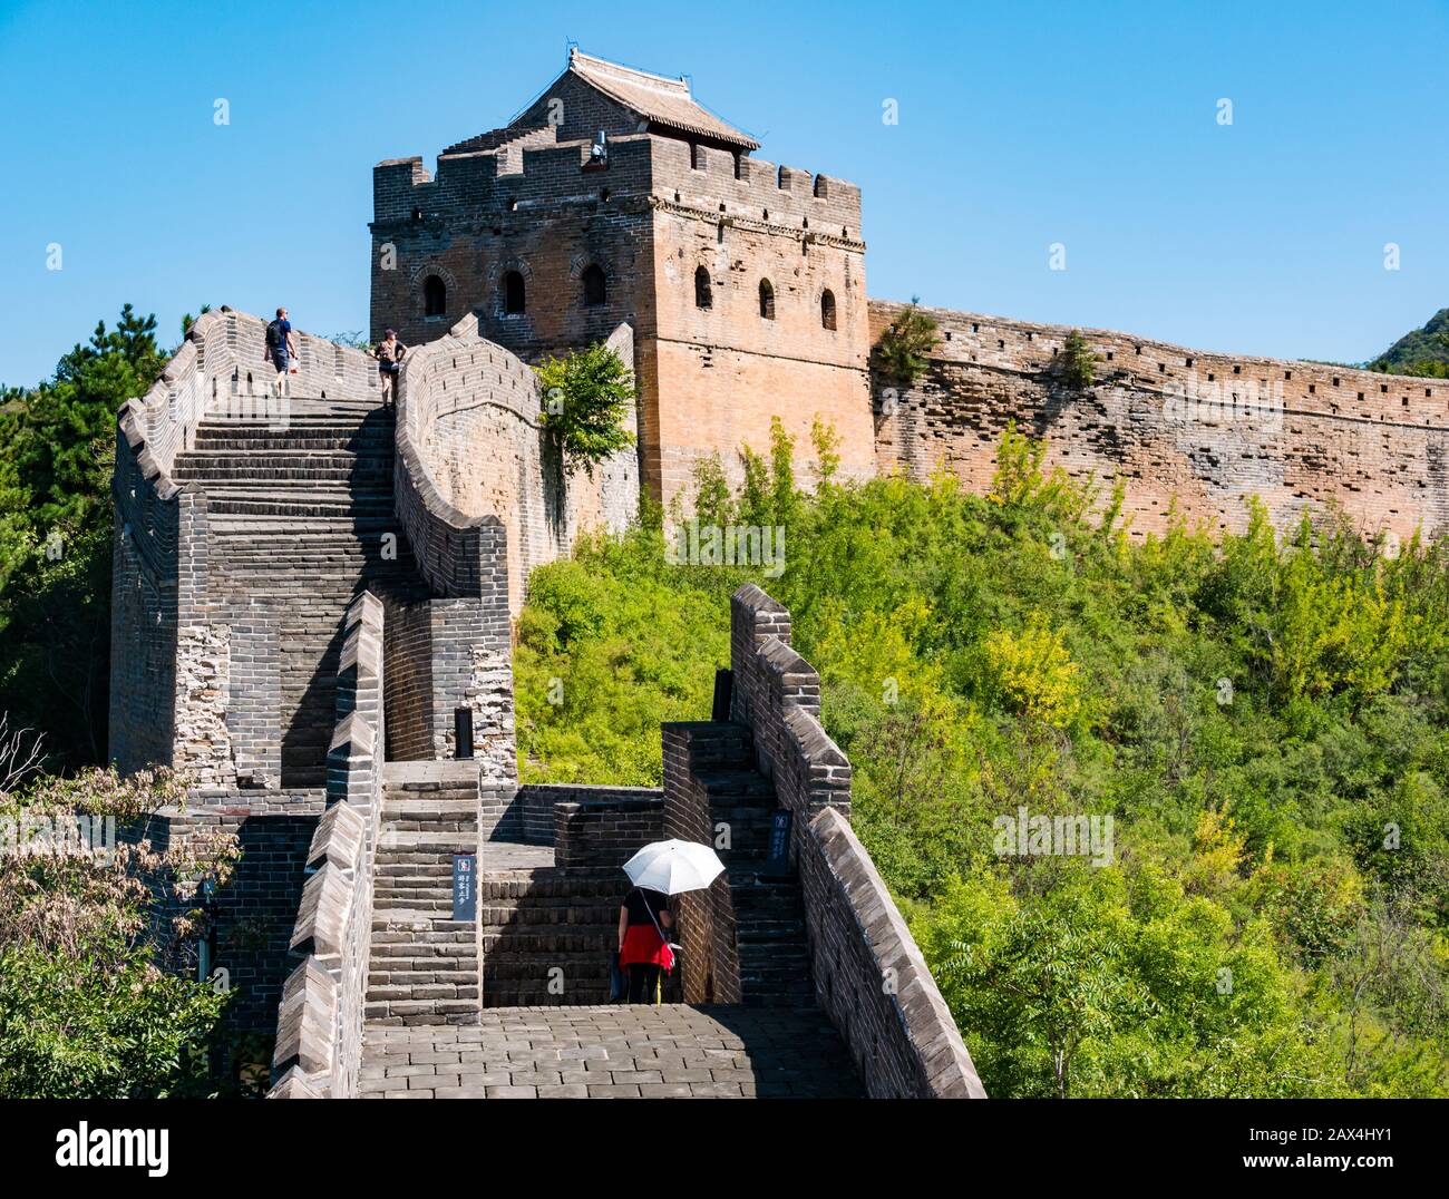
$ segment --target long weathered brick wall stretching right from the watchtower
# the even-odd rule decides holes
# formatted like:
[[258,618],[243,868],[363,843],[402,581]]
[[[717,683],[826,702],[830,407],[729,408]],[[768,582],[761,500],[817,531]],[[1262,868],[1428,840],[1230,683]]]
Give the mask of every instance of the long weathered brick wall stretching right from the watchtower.
[[[872,345],[901,304],[871,301]],[[1100,329],[1081,336],[1095,385],[1062,385],[1065,326],[927,310],[940,326],[910,388],[872,374],[877,463],[926,478],[948,468],[990,487],[1009,421],[1078,479],[1122,478],[1137,534],[1169,504],[1210,529],[1242,529],[1246,500],[1274,523],[1339,507],[1400,537],[1449,521],[1449,384],[1313,362],[1213,353]]]

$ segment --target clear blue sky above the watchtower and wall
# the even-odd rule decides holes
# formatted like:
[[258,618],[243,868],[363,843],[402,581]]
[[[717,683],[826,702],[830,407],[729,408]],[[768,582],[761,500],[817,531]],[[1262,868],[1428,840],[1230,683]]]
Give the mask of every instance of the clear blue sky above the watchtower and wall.
[[1449,306],[1445,0],[0,0],[0,382],[128,300],[168,343],[203,303],[364,329],[372,164],[504,123],[569,38],[859,182],[871,295],[1336,361]]

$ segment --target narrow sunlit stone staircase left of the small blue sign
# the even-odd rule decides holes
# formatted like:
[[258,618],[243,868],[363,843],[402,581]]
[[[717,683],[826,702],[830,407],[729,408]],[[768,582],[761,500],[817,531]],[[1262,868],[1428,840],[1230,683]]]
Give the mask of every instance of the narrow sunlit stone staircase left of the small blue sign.
[[475,927],[452,918],[452,859],[478,849],[472,762],[390,762],[372,889],[369,1025],[477,1024]]

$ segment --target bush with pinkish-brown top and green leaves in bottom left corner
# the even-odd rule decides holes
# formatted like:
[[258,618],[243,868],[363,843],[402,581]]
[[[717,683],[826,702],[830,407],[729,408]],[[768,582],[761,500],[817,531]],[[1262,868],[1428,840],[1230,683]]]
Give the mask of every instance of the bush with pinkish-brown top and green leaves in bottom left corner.
[[[122,781],[91,770],[0,794],[0,817],[35,827],[84,815],[125,830],[183,796],[165,773]],[[226,999],[187,977],[203,931],[193,901],[203,879],[226,885],[238,853],[235,834],[216,831],[167,850],[117,840],[109,853],[52,846],[0,857],[0,1093],[126,1099],[212,1089],[207,1050]],[[154,896],[170,918],[156,918]]]

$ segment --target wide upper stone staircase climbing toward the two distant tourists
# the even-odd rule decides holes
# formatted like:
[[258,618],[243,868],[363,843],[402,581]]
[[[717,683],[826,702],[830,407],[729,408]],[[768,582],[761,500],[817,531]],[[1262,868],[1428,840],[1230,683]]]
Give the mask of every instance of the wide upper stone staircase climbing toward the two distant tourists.
[[175,462],[177,481],[206,495],[233,659],[265,659],[268,673],[245,682],[280,686],[283,727],[255,740],[280,741],[285,786],[325,782],[346,605],[364,589],[390,607],[427,597],[393,516],[393,456],[391,410],[293,398],[271,418],[204,420]]

